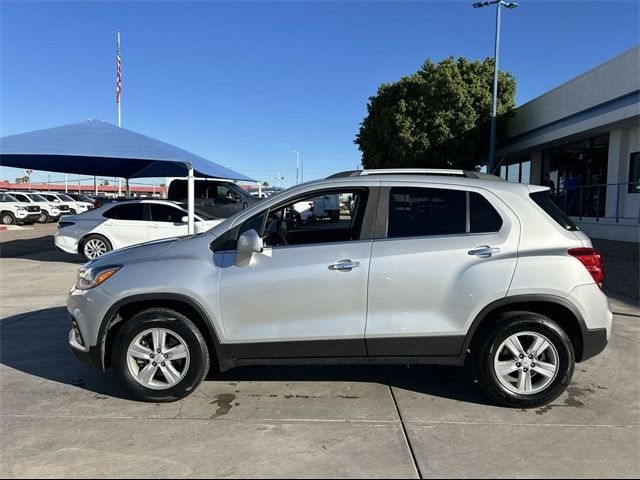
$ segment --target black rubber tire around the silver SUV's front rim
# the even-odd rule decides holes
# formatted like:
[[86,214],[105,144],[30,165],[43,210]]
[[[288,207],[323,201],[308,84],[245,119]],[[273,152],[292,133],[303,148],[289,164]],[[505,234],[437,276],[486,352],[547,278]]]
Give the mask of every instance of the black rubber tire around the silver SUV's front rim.
[[[136,336],[151,328],[175,332],[185,342],[190,360],[187,372],[175,386],[153,390],[139,383],[127,364],[127,351]],[[209,373],[210,356],[202,333],[187,317],[168,308],[150,308],[131,317],[118,331],[111,351],[111,365],[129,393],[147,402],[175,402],[190,395]]]

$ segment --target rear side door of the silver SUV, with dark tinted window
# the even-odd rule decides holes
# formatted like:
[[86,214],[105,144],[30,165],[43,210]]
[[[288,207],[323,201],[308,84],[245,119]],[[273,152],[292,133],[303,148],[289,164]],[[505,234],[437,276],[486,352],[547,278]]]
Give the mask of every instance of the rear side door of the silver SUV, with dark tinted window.
[[457,355],[470,319],[508,292],[517,217],[481,188],[383,183],[376,225],[369,355]]

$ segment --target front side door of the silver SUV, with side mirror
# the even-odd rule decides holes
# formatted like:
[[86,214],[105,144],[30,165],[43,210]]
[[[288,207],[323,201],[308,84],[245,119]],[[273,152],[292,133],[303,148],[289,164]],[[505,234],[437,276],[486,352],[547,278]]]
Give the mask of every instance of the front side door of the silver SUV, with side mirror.
[[[349,191],[354,194],[353,189]],[[287,229],[282,201],[239,224],[220,274],[227,342],[237,358],[365,356],[367,281],[377,188],[358,189],[362,208],[338,224]],[[236,266],[234,240],[263,236],[264,250]],[[280,241],[282,231],[288,241]]]

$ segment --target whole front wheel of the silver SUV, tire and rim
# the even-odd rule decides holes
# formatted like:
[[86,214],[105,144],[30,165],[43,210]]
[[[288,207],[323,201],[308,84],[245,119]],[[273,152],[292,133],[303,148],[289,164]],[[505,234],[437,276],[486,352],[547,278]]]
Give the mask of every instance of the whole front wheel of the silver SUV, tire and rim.
[[173,402],[193,392],[209,372],[209,350],[198,328],[184,315],[151,308],[118,331],[111,363],[116,377],[135,397]]

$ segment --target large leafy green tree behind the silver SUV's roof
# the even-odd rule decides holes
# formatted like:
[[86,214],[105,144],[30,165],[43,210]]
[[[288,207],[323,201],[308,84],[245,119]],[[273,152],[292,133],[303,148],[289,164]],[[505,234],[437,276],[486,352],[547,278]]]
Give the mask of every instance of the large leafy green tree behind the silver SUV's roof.
[[[356,135],[364,168],[462,168],[487,163],[493,59],[427,60],[411,76],[382,84]],[[515,107],[516,81],[498,75],[498,143]]]

